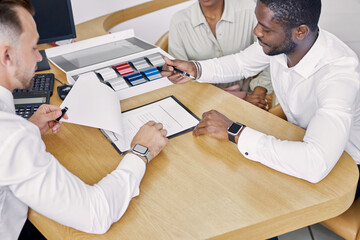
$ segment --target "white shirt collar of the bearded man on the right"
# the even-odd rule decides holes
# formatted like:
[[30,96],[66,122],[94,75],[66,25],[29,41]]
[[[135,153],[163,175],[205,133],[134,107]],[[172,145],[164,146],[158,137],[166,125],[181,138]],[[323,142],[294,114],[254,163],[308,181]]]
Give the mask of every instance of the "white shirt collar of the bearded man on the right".
[[[296,64],[292,69],[304,78],[309,78],[319,66],[320,60],[323,56],[326,47],[326,38],[323,31],[319,29],[319,36],[316,39],[314,45],[305,54],[305,56]],[[281,63],[281,65],[287,68],[287,57],[285,54],[275,56],[275,59]]]

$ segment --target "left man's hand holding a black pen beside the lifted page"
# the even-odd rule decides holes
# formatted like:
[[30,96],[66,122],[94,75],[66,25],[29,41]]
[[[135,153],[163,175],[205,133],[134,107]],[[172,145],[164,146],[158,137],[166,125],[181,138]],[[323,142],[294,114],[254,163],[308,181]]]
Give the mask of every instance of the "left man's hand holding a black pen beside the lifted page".
[[[41,134],[46,133],[49,129],[52,129],[53,133],[60,131],[61,122],[56,122],[55,119],[62,114],[61,109],[57,106],[43,104],[38,110],[29,118],[29,121],[39,127]],[[67,119],[65,114],[63,118]]]

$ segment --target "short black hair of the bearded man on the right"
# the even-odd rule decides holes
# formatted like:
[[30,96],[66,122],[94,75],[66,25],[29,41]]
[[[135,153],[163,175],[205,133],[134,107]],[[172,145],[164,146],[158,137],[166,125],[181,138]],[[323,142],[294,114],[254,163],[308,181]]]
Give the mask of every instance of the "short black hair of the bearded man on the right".
[[274,12],[274,20],[287,28],[307,25],[318,30],[321,0],[259,0]]

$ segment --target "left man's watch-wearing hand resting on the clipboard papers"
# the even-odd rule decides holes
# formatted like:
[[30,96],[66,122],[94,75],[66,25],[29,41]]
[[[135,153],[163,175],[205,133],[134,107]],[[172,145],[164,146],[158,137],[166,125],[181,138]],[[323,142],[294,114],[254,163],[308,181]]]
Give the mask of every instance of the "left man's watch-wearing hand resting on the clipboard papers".
[[135,144],[141,144],[147,147],[151,155],[150,160],[152,160],[168,143],[166,134],[167,131],[163,129],[161,123],[149,121],[139,129],[131,142],[131,147],[134,147]]

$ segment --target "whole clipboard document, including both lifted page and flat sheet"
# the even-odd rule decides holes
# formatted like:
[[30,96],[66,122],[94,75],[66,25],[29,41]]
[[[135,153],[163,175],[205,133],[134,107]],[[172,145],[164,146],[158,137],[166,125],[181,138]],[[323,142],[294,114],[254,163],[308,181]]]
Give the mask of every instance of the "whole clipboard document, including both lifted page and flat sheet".
[[135,134],[150,120],[162,123],[168,138],[191,131],[199,123],[173,96],[121,113],[116,92],[94,72],[79,77],[60,107],[68,108],[68,119],[63,122],[100,128],[121,153],[130,149]]

